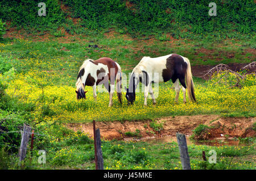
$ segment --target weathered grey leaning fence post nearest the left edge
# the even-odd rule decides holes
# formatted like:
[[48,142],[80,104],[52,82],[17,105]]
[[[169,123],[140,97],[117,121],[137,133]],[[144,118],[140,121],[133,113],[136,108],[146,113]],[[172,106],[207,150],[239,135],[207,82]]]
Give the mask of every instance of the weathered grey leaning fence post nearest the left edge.
[[20,163],[26,157],[27,144],[28,144],[28,140],[30,138],[30,131],[31,131],[31,127],[24,124],[23,125],[22,140],[20,141],[20,148],[19,148],[19,166],[20,166]]

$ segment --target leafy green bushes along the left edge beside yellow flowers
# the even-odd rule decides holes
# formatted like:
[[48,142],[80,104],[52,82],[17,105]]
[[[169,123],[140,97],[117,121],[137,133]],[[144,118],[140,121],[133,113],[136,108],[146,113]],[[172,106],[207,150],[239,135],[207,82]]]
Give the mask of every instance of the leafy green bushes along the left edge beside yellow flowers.
[[19,130],[22,129],[23,123],[30,123],[32,120],[28,112],[31,111],[31,104],[19,102],[18,99],[5,94],[14,77],[15,69],[10,58],[0,57],[0,150],[5,146],[10,146],[9,151],[16,150],[20,141]]

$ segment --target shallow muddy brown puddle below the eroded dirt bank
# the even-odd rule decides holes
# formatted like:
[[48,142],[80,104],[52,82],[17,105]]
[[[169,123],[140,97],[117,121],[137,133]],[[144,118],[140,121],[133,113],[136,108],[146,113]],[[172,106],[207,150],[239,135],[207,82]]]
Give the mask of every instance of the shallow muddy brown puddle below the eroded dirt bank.
[[[207,146],[246,146],[250,144],[246,144],[244,142],[240,142],[240,140],[226,140],[225,138],[218,137],[213,140],[208,141],[191,141],[189,140],[189,136],[187,138],[187,145],[207,145]],[[177,142],[177,138],[175,136],[163,136],[163,137],[144,137],[144,138],[124,138],[125,141],[144,141],[149,142],[151,144],[154,143],[166,143],[166,142]]]

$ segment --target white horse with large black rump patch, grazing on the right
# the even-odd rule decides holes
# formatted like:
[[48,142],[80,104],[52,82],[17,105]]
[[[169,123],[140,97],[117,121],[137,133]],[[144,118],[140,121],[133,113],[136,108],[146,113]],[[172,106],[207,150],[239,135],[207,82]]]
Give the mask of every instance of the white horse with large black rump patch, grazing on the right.
[[[152,74],[158,73],[159,79],[152,80]],[[129,81],[129,89],[126,89],[126,99],[131,104],[135,101],[135,90],[139,81],[145,85],[144,88],[144,106],[147,106],[148,92],[152,97],[153,104],[156,103],[152,86],[152,82],[167,82],[172,80],[174,83],[176,96],[175,100],[178,103],[180,88],[183,91],[183,102],[186,102],[186,88],[188,89],[189,99],[196,102],[193,79],[191,73],[191,66],[188,58],[180,56],[179,54],[168,54],[162,57],[143,57],[131,73]],[[179,85],[179,81],[181,86]]]

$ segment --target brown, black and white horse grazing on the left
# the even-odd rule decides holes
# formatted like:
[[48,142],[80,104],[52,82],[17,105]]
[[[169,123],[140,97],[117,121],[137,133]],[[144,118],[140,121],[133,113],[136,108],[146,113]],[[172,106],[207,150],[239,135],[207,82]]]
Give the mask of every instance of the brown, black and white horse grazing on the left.
[[77,75],[77,99],[86,99],[85,93],[87,91],[85,91],[85,86],[92,86],[93,97],[97,100],[96,86],[104,83],[106,90],[109,92],[109,107],[111,107],[115,81],[117,81],[118,100],[122,104],[122,71],[120,65],[111,58],[106,57],[98,60],[85,60]]

